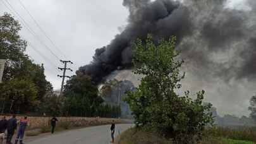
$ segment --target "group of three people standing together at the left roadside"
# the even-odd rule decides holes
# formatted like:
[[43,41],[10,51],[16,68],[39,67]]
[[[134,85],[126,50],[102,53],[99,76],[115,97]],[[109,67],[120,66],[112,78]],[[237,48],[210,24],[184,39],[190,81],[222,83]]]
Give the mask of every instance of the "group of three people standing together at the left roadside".
[[[19,123],[20,123],[20,126],[18,128],[15,144],[17,144],[18,141],[20,141],[20,144],[23,144],[25,129],[27,128],[27,125],[28,125],[27,116],[21,118]],[[9,120],[7,120],[5,116],[1,119],[0,133],[5,133],[5,131],[7,130],[6,144],[11,144],[11,140],[13,138],[13,135],[15,134],[16,129],[17,129],[17,119],[15,114],[13,114],[13,116]]]

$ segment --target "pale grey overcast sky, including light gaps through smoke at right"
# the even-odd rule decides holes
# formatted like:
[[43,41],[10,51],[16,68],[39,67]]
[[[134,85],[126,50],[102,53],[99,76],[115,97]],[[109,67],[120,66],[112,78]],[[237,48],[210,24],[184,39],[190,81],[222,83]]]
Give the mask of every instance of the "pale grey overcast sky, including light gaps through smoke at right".
[[[4,6],[3,1],[7,4],[6,0],[0,0],[0,15],[3,15],[4,12],[10,13],[9,9]],[[90,63],[90,61],[92,61],[92,56],[94,56],[95,49],[109,44],[114,36],[119,33],[120,27],[126,25],[126,20],[128,18],[128,10],[123,7],[122,0],[8,1],[13,8],[15,8],[15,11],[27,21],[29,27],[37,33],[40,40],[44,41],[44,44],[51,48],[54,54],[61,57],[61,59],[68,57],[67,60],[71,60],[75,63],[69,65],[75,71],[79,66]],[[44,34],[40,32],[39,28],[35,25],[25,9],[23,9],[19,1],[22,1],[42,29],[46,31],[54,44],[58,45],[59,49],[63,51],[64,55],[66,55],[65,57],[63,57],[63,54],[56,50],[54,45],[52,45],[51,42],[46,39]],[[245,0],[230,0],[229,6],[238,9],[244,8],[244,1]],[[11,14],[13,15],[13,13]],[[16,20],[21,21],[16,15],[15,18]],[[23,24],[21,23],[21,25]],[[47,80],[51,81],[54,89],[59,89],[61,87],[61,78],[58,78],[57,75],[62,74],[61,71],[57,70],[58,66],[62,66],[59,60],[56,59],[44,45],[40,44],[39,40],[29,33],[25,27],[21,30],[21,35],[23,39],[34,45],[35,49],[40,51],[40,54],[44,55],[46,59],[49,59],[46,60],[44,57],[40,56],[38,52],[35,52],[32,47],[28,46],[28,56],[34,59],[35,63],[45,64]],[[68,73],[68,75],[73,74],[74,72]],[[216,86],[216,83],[212,83],[212,85],[214,88],[208,90],[209,93],[215,93],[221,89]],[[184,86],[185,88],[193,89],[193,86],[191,85],[188,86],[185,84]],[[202,86],[202,88],[203,87],[204,86]],[[243,89],[247,90],[247,88]],[[241,93],[241,95],[243,95],[243,93]],[[248,95],[248,97],[250,97],[250,95]],[[232,101],[226,100],[225,97],[206,97],[206,99],[212,101],[212,103],[219,108],[222,115],[228,113],[236,114],[238,116],[248,114],[247,107],[249,99],[246,99],[243,102],[237,102],[239,105],[235,105],[235,107],[226,107],[226,105],[223,105],[223,100],[226,102]],[[238,111],[233,111],[234,109]]]

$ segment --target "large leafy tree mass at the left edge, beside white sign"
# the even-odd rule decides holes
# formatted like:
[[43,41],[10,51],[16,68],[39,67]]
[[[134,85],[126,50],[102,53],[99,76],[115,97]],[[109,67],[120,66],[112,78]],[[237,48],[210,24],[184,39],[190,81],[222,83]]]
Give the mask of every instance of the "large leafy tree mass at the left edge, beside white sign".
[[[13,16],[8,13],[0,16],[0,59],[6,59],[3,83],[1,83],[3,87],[0,87],[2,92],[0,104],[6,105],[1,107],[2,112],[9,112],[7,107],[13,107],[13,112],[25,112],[19,107],[30,107],[36,103],[34,100],[42,99],[46,92],[52,89],[51,83],[44,75],[44,66],[34,64],[25,54],[27,42],[21,39],[20,30],[21,25]],[[9,93],[10,88],[13,88],[15,93]],[[20,99],[21,95],[25,95],[26,100],[32,101],[13,99],[13,97]]]

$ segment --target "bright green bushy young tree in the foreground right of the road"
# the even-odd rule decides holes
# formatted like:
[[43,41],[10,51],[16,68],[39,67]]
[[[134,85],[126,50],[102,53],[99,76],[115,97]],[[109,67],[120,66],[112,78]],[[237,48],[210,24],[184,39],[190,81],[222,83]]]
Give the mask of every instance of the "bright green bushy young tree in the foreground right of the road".
[[[205,126],[212,122],[210,104],[203,105],[204,90],[192,100],[189,92],[180,96],[180,75],[183,61],[175,51],[176,38],[161,40],[155,45],[149,37],[133,45],[135,74],[143,75],[135,92],[128,92],[126,102],[130,105],[138,127],[154,128],[177,143],[196,143]],[[145,43],[145,44],[144,44]]]

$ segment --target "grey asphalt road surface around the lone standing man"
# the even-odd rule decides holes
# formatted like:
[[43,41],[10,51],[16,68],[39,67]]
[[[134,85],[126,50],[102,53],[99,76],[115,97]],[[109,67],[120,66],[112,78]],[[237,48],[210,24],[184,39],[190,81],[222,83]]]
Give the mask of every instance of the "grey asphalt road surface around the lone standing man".
[[[26,144],[106,144],[111,141],[111,125],[94,126],[46,136]],[[133,124],[116,124],[115,137]]]

